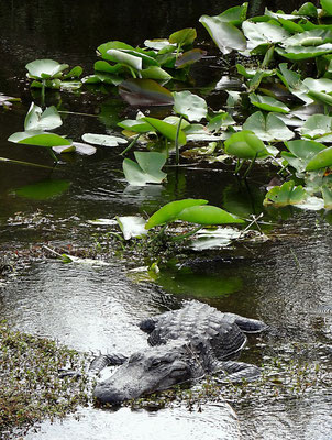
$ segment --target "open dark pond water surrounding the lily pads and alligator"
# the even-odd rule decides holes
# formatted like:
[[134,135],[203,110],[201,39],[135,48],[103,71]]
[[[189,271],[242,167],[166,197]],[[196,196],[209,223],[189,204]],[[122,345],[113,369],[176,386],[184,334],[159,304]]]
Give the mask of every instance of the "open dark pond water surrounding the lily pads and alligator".
[[[298,6],[277,3],[267,6],[286,12]],[[81,64],[89,74],[95,50],[103,42],[139,44],[185,26],[196,26],[200,41],[207,40],[198,18],[230,6],[221,1],[0,0],[0,91],[22,98],[22,105],[10,111],[0,108],[0,156],[52,164],[46,151],[7,141],[10,134],[23,130],[32,101],[24,82],[27,62],[51,57]],[[264,6],[252,3],[251,9],[258,13]],[[219,70],[204,72],[209,72],[207,82],[220,79]],[[201,73],[197,75],[201,81]],[[90,114],[64,117],[57,132],[77,141],[85,132],[112,131],[118,120],[131,114],[114,92],[62,92],[49,95],[48,100],[63,110]],[[259,213],[264,198],[261,187],[273,175],[265,169],[246,187],[218,165],[189,166],[169,168],[165,185],[131,188],[122,177],[119,152],[99,148],[91,157],[64,158],[55,170],[0,162],[1,246],[15,250],[45,241],[51,245],[86,244],[93,232],[87,220],[151,215],[161,205],[185,197],[207,198],[235,213]],[[13,194],[15,188],[49,178],[66,179],[70,187],[46,200]],[[88,408],[80,411],[79,421],[68,418],[63,424],[45,422],[27,439],[331,440],[332,318],[322,312],[332,304],[331,227],[322,212],[285,209],[269,212],[268,218],[277,227],[269,231],[267,242],[214,252],[213,261],[207,253],[197,253],[181,270],[163,272],[156,285],[136,283],[118,261],[109,266],[33,263],[0,286],[0,316],[20,330],[55,338],[81,351],[115,349],[130,353],[133,348],[146,346],[135,326],[140,318],[196,298],[221,310],[262,319],[270,327],[267,334],[250,340],[243,361],[261,364],[280,358],[286,363],[318,363],[325,374],[325,386],[297,399],[262,398],[243,406],[232,402],[234,409],[211,403],[203,413],[188,413],[182,407],[154,413]]]

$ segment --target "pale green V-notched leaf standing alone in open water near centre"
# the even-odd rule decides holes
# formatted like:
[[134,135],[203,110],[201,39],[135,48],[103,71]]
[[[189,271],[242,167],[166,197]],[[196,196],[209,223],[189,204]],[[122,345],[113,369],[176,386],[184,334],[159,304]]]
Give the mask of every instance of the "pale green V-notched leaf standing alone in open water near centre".
[[161,184],[166,178],[166,173],[161,169],[166,163],[166,156],[157,152],[134,152],[135,160],[123,161],[123,173],[130,185],[143,186],[146,184]]

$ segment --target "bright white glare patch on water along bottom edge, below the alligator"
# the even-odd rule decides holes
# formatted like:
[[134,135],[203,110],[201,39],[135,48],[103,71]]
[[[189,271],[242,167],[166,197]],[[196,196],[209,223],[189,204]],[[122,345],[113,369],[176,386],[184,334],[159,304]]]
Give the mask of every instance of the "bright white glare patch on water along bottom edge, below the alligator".
[[235,413],[226,403],[209,406],[202,413],[185,408],[86,408],[80,416],[79,420],[70,417],[63,422],[44,422],[41,431],[30,433],[25,440],[240,440]]

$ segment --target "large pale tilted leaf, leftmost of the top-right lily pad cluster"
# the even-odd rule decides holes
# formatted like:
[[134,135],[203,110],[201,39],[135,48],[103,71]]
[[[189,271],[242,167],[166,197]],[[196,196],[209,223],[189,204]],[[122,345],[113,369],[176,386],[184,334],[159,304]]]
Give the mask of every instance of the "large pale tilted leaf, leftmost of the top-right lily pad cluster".
[[223,54],[229,54],[233,50],[245,50],[246,40],[243,33],[233,24],[225,22],[222,14],[202,15],[199,21]]

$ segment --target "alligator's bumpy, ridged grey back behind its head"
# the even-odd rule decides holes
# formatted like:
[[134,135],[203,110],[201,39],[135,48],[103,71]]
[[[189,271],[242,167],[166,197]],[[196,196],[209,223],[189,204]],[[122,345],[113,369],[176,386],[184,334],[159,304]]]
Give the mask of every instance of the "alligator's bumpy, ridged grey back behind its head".
[[219,361],[223,361],[237,353],[246,342],[245,334],[235,323],[235,317],[236,315],[223,314],[207,304],[190,301],[179,310],[152,318],[148,329],[143,321],[141,328],[151,331],[151,345],[177,339],[192,342],[200,340],[211,346]]

